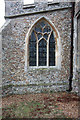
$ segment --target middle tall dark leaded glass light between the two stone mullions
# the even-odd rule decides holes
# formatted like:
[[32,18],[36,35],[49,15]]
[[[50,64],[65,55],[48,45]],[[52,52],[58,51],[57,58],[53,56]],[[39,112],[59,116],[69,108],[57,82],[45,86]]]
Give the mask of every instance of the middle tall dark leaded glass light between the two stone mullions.
[[46,66],[47,45],[45,40],[39,42],[39,66]]

